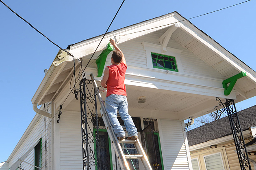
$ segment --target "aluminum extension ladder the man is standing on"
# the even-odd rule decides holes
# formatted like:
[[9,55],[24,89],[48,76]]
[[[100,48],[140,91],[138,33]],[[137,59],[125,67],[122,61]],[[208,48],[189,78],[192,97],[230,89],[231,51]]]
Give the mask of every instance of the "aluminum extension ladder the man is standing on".
[[[147,157],[145,151],[143,150],[143,147],[142,147],[141,143],[139,142],[139,139],[137,139],[137,140],[125,140],[124,139],[124,140],[120,140],[120,141],[117,139],[117,136],[115,135],[115,132],[114,132],[114,130],[111,126],[111,123],[108,119],[105,104],[104,104],[101,94],[100,94],[100,91],[102,91],[102,90],[98,89],[97,83],[96,83],[92,73],[91,73],[91,80],[92,80],[94,89],[96,91],[96,94],[98,96],[98,100],[100,101],[100,106],[101,106],[100,114],[102,116],[106,130],[108,132],[108,136],[110,138],[111,145],[112,145],[113,149],[115,150],[115,154],[117,155],[117,159],[119,161],[121,170],[131,170],[129,168],[129,165],[128,165],[128,162],[126,159],[141,159],[145,170],[152,170],[150,163],[148,161],[148,157]],[[124,152],[121,147],[121,143],[134,144],[138,155],[124,155]]]

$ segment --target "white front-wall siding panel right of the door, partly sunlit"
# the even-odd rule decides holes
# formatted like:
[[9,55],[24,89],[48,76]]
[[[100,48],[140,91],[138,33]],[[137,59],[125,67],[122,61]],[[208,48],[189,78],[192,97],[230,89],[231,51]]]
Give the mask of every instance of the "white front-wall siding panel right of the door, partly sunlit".
[[158,119],[165,170],[189,170],[181,121]]

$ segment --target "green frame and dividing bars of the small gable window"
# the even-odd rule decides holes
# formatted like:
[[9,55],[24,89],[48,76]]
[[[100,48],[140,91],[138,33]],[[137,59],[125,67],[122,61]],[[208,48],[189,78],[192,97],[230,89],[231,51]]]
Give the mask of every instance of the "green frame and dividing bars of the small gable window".
[[[173,59],[173,61],[171,61],[171,60],[159,59],[159,58],[154,58],[154,57],[152,57],[152,55],[157,55],[157,56],[159,55],[160,57],[168,57],[168,59],[171,58],[171,59]],[[176,71],[176,72],[178,72],[178,66],[177,66],[177,63],[176,63],[176,59],[175,59],[175,57],[173,57],[173,56],[162,55],[162,54],[158,54],[158,53],[151,53],[151,59],[152,59],[153,68],[159,68],[159,69],[163,69],[163,70],[171,70],[171,71]],[[164,67],[159,67],[157,61],[154,61],[154,60],[163,61]],[[166,68],[166,66],[165,66],[165,61],[171,62],[171,67],[172,67],[172,68],[173,68],[173,67],[176,67],[176,69]],[[156,66],[154,66],[154,64],[155,64]],[[174,65],[173,65],[173,64],[174,64]]]

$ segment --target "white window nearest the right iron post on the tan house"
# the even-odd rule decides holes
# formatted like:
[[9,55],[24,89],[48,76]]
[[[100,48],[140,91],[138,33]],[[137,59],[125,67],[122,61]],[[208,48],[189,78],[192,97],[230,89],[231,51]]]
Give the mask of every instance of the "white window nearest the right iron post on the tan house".
[[204,157],[207,170],[223,170],[220,153]]

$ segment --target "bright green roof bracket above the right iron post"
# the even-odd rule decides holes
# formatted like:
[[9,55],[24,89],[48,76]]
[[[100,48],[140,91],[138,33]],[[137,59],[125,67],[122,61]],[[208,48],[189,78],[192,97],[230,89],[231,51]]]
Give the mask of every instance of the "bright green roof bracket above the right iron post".
[[[245,76],[246,76],[246,72],[240,72],[240,73],[234,75],[233,77],[230,77],[230,78],[222,81],[222,86],[225,89],[224,90],[225,96],[228,96],[231,93],[234,85],[236,84],[236,81]],[[228,85],[228,83],[230,83],[230,84]]]

